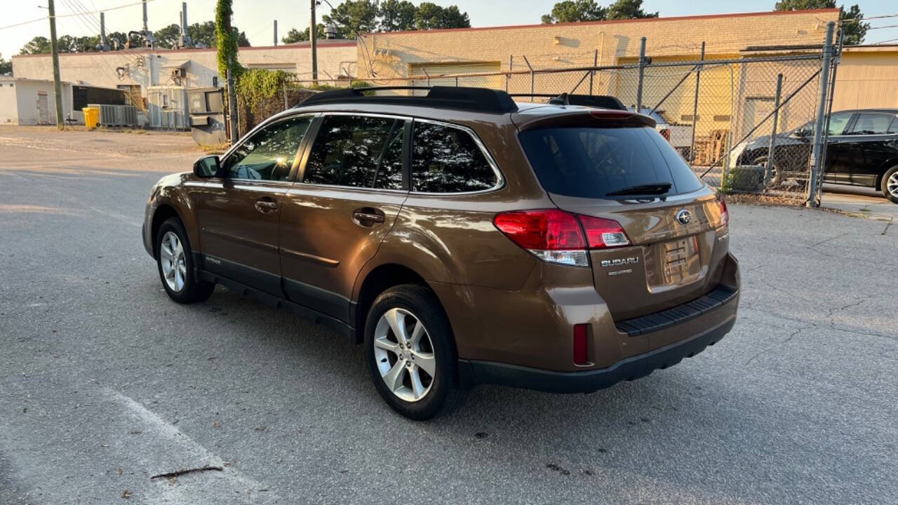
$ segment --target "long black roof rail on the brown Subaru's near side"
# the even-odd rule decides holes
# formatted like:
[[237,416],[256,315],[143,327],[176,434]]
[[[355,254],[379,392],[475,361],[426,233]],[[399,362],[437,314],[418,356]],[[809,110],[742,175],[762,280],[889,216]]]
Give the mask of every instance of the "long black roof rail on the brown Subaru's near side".
[[[426,95],[383,95],[379,91],[422,91]],[[395,105],[416,105],[436,109],[488,112],[506,114],[517,111],[515,101],[508,93],[489,88],[468,88],[454,86],[378,86],[370,88],[345,88],[315,93],[296,107],[318,105],[320,103],[386,103]]]

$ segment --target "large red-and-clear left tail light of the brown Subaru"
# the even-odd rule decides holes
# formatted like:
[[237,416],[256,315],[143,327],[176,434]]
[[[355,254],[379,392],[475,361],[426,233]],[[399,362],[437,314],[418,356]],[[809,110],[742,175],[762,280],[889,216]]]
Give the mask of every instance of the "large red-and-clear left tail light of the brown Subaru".
[[559,209],[503,212],[496,227],[542,261],[588,267],[588,249],[629,244],[617,221],[577,216]]

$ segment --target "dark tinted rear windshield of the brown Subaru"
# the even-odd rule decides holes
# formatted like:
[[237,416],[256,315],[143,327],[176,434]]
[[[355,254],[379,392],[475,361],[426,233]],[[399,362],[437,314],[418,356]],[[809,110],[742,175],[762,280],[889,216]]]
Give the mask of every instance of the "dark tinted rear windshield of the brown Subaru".
[[604,198],[658,182],[671,184],[665,195],[702,187],[654,128],[540,128],[521,132],[520,138],[536,176],[550,193]]

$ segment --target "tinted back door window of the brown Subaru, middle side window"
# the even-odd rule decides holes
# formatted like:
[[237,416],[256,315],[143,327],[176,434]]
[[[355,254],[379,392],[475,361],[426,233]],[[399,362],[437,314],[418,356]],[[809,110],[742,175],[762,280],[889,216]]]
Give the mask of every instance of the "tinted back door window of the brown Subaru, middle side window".
[[325,116],[303,182],[401,190],[405,123],[379,116]]

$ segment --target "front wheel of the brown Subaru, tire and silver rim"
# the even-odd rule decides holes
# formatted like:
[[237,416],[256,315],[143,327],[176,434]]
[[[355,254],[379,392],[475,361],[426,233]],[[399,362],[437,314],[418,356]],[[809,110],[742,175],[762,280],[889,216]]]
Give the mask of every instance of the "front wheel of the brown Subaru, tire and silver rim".
[[179,304],[201,302],[210,297],[216,285],[193,275],[190,243],[180,219],[165,220],[156,237],[156,266],[168,296]]

